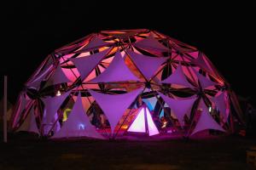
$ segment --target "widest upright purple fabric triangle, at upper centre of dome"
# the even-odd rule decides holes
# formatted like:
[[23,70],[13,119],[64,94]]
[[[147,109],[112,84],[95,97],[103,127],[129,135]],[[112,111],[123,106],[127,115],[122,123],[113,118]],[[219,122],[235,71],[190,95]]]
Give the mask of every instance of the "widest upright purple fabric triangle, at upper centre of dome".
[[121,54],[117,52],[114,55],[113,61],[110,63],[106,71],[103,71],[98,77],[90,82],[122,82],[122,81],[139,81],[128,67]]

